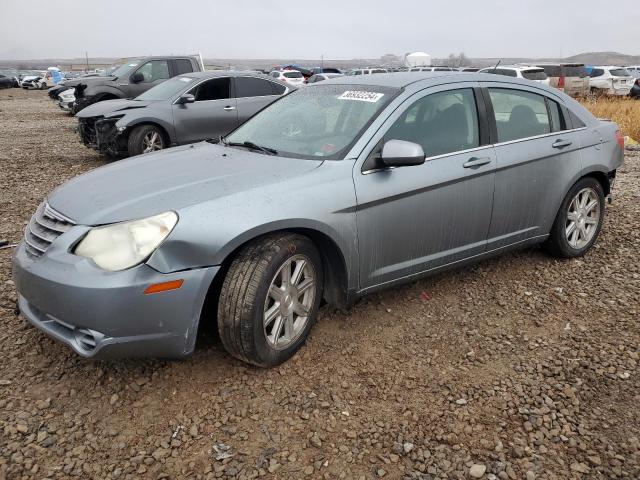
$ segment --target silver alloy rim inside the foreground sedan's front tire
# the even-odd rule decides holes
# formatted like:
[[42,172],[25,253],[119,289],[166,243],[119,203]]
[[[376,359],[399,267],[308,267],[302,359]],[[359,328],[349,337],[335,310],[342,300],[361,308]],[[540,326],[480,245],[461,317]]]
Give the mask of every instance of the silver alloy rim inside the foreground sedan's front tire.
[[302,334],[316,296],[316,272],[304,255],[289,257],[271,280],[263,328],[269,346],[284,350]]

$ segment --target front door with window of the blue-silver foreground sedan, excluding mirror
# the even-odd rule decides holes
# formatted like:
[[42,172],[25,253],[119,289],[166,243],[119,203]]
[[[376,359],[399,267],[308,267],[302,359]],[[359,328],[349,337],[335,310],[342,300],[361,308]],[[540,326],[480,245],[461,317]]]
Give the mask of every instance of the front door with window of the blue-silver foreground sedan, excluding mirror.
[[[474,86],[417,93],[374,136],[363,166],[356,164],[361,290],[485,251],[496,159]],[[372,155],[392,139],[422,145],[425,163],[371,168]]]

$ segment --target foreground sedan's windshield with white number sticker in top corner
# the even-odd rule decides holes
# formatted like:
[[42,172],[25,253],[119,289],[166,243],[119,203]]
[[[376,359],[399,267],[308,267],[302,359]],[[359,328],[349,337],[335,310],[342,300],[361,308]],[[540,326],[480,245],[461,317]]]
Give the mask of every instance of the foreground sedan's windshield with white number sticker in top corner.
[[318,85],[273,103],[229,135],[298,158],[338,159],[398,93],[369,85]]

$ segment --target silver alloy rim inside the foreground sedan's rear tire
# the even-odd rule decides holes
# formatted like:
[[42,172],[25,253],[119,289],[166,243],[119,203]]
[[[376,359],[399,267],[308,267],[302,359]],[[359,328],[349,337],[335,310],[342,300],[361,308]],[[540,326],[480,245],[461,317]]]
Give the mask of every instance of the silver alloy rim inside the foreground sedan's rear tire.
[[593,239],[600,215],[600,199],[593,188],[583,188],[573,197],[565,224],[565,235],[571,248],[580,250]]

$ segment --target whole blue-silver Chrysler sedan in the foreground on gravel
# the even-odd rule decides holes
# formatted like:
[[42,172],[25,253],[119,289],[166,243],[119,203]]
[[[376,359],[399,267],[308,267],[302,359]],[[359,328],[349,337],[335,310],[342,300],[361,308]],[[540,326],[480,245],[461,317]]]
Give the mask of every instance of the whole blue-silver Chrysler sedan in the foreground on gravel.
[[488,74],[342,77],[220,143],[98,168],[52,192],[13,259],[19,307],[86,357],[181,357],[215,322],[276,365],[322,301],[544,242],[596,241],[623,161],[616,124]]

